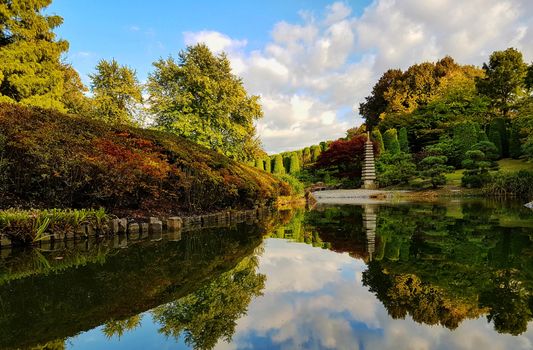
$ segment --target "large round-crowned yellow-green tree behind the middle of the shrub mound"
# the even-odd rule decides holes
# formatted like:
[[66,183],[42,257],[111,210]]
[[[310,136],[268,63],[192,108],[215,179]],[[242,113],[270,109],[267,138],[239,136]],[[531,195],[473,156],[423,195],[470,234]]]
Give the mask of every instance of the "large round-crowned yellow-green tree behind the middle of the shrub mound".
[[263,116],[259,96],[250,96],[231,73],[225,54],[204,44],[154,63],[148,78],[150,111],[167,131],[223,153],[254,158],[260,149],[254,121]]

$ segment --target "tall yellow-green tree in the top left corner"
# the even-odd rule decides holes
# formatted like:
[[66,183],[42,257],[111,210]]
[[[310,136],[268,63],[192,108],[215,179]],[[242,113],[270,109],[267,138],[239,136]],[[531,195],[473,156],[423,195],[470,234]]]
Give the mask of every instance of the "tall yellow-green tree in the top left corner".
[[50,3],[0,3],[0,102],[65,110],[61,54],[68,42],[53,33],[63,19],[42,14]]

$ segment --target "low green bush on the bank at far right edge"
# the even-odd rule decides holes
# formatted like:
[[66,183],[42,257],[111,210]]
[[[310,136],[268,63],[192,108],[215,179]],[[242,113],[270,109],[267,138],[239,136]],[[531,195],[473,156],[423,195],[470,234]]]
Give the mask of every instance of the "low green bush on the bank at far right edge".
[[533,171],[498,172],[484,184],[483,192],[491,196],[512,196],[533,199]]

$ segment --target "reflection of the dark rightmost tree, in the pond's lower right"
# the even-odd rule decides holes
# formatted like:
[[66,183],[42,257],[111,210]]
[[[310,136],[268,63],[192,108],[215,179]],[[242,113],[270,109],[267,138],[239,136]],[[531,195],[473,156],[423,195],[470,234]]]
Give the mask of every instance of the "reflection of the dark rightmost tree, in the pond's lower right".
[[530,293],[510,270],[496,274],[492,288],[480,296],[480,304],[490,308],[487,319],[494,322],[494,328],[513,335],[527,330],[527,323],[532,319],[532,301]]

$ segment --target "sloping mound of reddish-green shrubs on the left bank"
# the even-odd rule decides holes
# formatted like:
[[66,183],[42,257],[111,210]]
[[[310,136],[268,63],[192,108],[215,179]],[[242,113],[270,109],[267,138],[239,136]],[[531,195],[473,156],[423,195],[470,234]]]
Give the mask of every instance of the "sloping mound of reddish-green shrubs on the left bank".
[[2,206],[203,211],[290,194],[263,171],[164,132],[1,104],[0,135]]

